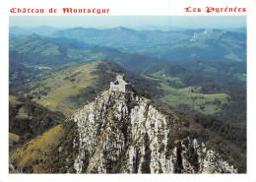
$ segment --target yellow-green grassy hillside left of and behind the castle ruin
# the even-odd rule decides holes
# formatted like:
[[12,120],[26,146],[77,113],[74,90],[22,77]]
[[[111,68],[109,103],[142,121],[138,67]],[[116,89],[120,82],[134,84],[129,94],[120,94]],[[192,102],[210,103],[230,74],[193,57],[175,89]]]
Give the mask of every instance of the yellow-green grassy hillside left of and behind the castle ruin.
[[[90,86],[92,80],[96,78],[91,75],[91,72],[95,71],[97,64],[98,62],[88,63],[59,71],[52,77],[36,83],[39,84],[39,87],[31,93],[46,91],[47,94],[43,98],[49,102],[47,107],[51,110],[59,110],[69,116],[76,108],[74,103],[66,98],[76,95],[81,89]],[[39,98],[33,98],[33,100],[41,105],[46,104],[45,100]]]

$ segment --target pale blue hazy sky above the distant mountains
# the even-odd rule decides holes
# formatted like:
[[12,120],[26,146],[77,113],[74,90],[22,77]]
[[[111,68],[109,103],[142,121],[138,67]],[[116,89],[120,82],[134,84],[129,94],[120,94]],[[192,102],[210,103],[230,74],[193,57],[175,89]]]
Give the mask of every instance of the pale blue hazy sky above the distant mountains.
[[54,28],[178,27],[186,29],[245,28],[246,16],[10,16],[9,26]]

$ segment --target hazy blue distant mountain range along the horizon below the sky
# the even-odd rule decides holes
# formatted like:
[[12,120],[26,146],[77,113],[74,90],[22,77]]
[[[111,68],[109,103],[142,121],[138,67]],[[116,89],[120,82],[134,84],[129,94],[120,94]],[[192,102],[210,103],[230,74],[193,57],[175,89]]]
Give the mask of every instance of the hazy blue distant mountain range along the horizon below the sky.
[[96,30],[10,28],[10,35],[37,33],[75,39],[91,45],[147,55],[171,61],[246,62],[246,34],[228,30],[131,30],[124,27]]

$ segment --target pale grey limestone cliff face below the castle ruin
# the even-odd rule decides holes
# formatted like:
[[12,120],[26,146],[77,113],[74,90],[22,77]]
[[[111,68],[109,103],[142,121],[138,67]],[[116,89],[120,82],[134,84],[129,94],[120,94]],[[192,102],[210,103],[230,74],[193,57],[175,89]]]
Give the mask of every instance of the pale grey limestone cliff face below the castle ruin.
[[77,110],[74,161],[78,173],[236,173],[197,139],[169,145],[174,119],[132,92],[103,91]]

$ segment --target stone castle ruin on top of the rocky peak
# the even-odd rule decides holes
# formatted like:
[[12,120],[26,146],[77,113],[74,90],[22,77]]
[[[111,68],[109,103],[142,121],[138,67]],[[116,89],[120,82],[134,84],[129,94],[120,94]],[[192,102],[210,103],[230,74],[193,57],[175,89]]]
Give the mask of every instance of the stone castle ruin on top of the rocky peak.
[[110,83],[109,91],[132,91],[132,84],[124,81],[124,75],[117,75],[116,81]]

